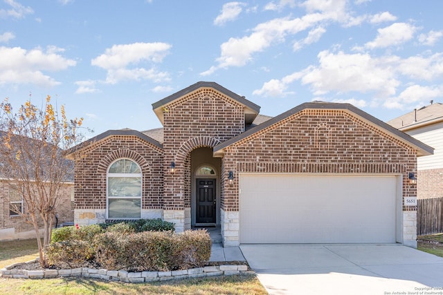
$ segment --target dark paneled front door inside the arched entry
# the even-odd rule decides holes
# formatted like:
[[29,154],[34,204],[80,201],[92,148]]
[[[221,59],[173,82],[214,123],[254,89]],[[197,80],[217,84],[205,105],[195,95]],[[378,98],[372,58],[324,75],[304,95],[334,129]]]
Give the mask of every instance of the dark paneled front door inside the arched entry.
[[197,223],[215,223],[215,179],[197,178]]

